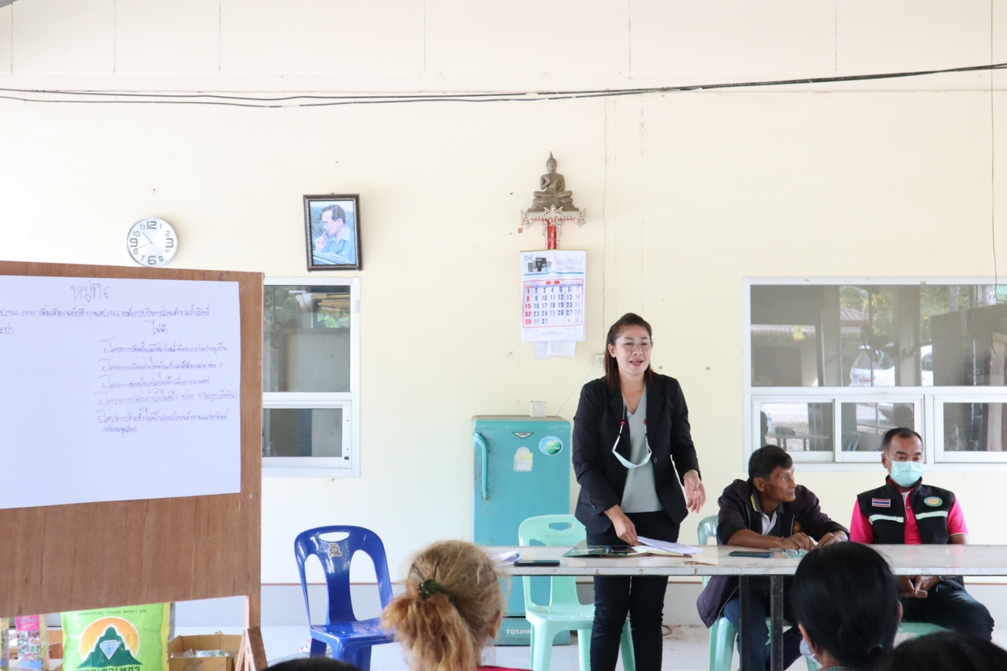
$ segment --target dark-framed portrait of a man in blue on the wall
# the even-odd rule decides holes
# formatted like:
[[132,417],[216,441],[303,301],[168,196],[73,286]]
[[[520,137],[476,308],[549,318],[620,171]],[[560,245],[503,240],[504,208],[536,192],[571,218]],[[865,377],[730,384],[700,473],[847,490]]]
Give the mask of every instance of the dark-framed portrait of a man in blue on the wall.
[[361,270],[359,194],[304,196],[309,271]]

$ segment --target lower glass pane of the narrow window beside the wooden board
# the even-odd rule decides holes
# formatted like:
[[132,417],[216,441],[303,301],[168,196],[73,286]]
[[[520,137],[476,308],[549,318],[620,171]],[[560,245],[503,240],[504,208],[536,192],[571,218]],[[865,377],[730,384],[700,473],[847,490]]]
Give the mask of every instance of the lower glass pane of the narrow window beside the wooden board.
[[343,457],[342,408],[264,409],[262,456]]

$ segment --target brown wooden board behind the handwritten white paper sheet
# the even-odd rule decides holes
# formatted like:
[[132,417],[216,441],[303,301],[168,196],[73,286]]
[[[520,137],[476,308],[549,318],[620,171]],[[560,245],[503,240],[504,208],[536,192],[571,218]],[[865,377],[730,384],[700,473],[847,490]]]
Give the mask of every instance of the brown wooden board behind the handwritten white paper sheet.
[[265,668],[259,629],[263,275],[26,262],[0,262],[0,275],[238,283],[241,493],[0,510],[0,616],[244,596],[238,668]]

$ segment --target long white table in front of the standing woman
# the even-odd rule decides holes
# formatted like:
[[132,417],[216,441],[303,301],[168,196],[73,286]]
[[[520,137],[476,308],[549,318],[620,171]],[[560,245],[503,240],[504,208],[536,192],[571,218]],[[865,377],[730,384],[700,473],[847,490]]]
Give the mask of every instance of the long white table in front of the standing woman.
[[[896,575],[1007,575],[1007,545],[873,545]],[[708,545],[691,557],[564,557],[569,547],[486,547],[490,555],[518,551],[522,559],[558,559],[559,566],[503,566],[511,575],[737,575],[740,578],[742,621],[749,608],[748,582],[769,576],[771,671],[783,671],[783,578],[801,562],[781,550],[767,559],[732,557],[733,550],[753,548]],[[744,639],[742,639],[744,640]],[[741,669],[751,665],[742,647]]]

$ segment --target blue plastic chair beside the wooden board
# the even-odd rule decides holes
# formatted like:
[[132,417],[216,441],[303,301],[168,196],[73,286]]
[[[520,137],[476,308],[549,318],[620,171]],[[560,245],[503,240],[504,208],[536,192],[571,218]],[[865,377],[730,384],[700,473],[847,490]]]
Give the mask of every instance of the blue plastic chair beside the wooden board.
[[[342,540],[328,541],[322,534],[345,533]],[[385,545],[374,531],[359,526],[319,526],[308,529],[294,539],[294,556],[297,570],[301,574],[301,590],[304,592],[304,609],[308,615],[311,631],[311,657],[325,655],[325,647],[332,648],[332,659],[369,671],[371,669],[371,647],[392,643],[392,632],[381,627],[381,618],[356,620],[349,595],[349,562],[354,552],[364,552],[371,557],[378,575],[378,593],[384,609],[392,601],[392,580],[388,575],[388,559]],[[308,603],[308,583],[304,574],[304,562],[314,555],[321,561],[325,571],[325,585],[328,589],[328,613],[324,625],[311,624],[311,606]]]

